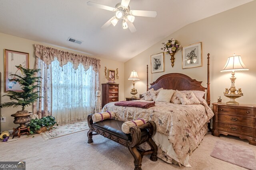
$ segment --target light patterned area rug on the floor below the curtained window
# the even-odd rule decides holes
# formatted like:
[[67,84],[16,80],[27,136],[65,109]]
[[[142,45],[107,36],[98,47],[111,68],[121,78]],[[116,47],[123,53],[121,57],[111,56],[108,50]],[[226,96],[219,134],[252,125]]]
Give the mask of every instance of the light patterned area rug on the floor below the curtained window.
[[78,121],[74,123],[68,123],[63,125],[54,126],[53,129],[46,131],[42,134],[44,139],[53,139],[71,133],[85,131],[89,129],[87,121]]

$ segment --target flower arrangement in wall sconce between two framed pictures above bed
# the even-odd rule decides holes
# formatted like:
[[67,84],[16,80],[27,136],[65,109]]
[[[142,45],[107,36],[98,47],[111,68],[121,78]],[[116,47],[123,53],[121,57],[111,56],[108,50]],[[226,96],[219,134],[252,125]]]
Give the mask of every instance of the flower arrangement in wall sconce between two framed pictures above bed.
[[180,49],[180,44],[177,40],[175,40],[174,38],[171,38],[170,40],[168,40],[166,43],[162,43],[162,45],[164,47],[162,47],[161,49],[164,50],[164,52],[170,54],[171,56],[171,63],[172,63],[172,67],[174,66],[174,55],[175,53]]

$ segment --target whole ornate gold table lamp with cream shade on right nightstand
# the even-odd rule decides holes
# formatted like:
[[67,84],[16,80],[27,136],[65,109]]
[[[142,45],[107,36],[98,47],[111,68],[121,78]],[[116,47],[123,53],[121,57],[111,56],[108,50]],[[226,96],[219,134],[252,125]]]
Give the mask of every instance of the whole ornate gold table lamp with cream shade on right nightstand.
[[235,86],[235,80],[236,80],[235,72],[247,71],[247,70],[249,70],[249,69],[246,68],[246,66],[242,62],[241,56],[234,54],[234,56],[228,57],[228,61],[227,61],[226,65],[220,71],[220,72],[232,72],[231,73],[232,76],[230,78],[231,86],[230,86],[229,89],[226,88],[226,90],[224,92],[224,96],[230,98],[230,101],[226,102],[226,104],[239,105],[239,103],[236,102],[236,98],[239,98],[239,97],[244,96],[244,95],[242,94],[241,88],[238,88],[238,90],[236,90],[236,86]]

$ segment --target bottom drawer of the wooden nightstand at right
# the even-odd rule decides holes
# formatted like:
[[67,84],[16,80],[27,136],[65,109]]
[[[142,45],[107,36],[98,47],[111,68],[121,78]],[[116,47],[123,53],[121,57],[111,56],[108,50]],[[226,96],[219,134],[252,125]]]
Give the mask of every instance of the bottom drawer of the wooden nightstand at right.
[[218,130],[229,133],[238,133],[241,135],[254,136],[255,129],[250,127],[243,127],[237,125],[229,125],[226,123],[217,123]]

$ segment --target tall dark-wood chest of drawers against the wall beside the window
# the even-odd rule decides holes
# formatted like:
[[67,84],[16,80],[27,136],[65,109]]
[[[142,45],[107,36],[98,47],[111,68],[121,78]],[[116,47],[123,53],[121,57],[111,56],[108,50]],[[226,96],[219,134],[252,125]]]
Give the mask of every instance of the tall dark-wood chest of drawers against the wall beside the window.
[[102,107],[110,102],[118,102],[118,85],[116,83],[102,84]]

